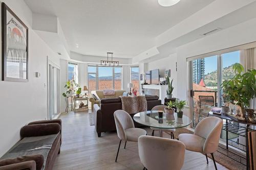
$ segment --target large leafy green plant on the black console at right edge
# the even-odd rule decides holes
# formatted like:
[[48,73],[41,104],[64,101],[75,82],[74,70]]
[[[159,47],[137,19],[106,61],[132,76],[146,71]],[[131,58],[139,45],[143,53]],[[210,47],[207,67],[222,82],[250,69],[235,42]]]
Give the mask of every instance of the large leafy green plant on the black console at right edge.
[[225,80],[221,87],[226,102],[239,105],[245,117],[246,108],[250,107],[250,100],[256,96],[256,70],[250,69],[242,73],[244,67],[239,63],[235,63],[232,68],[236,75],[230,80]]

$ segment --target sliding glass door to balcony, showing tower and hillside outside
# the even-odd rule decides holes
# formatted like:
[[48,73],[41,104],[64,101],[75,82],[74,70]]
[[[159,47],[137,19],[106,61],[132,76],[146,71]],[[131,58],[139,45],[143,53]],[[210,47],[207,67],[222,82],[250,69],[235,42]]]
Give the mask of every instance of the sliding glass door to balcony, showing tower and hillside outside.
[[240,51],[191,61],[194,127],[207,116],[211,107],[223,105],[221,84],[234,77],[234,63],[240,63]]

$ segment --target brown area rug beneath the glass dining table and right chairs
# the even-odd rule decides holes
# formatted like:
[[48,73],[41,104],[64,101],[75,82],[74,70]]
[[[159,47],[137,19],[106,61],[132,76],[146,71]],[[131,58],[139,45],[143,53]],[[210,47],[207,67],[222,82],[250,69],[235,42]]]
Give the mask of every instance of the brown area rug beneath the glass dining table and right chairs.
[[[192,131],[188,130],[188,129],[185,129],[185,128],[180,128],[180,129],[176,129],[175,133],[174,133],[174,137],[177,139],[179,134],[181,133],[189,133],[189,134],[193,134]],[[223,154],[226,154],[227,155],[227,151],[222,149],[222,148],[225,148],[225,145],[223,144],[219,144],[219,147],[218,147],[218,150],[217,152],[214,153],[214,158],[216,160],[216,162],[222,164],[223,166],[225,166],[226,168],[228,169],[232,169],[232,170],[242,170],[242,169],[246,169],[246,166],[237,162],[237,161],[234,161],[232,160],[231,158],[223,155]],[[242,155],[240,152],[237,152],[236,150],[232,150],[229,148],[230,151],[238,154],[238,155]],[[228,155],[230,157],[232,157],[233,159],[236,159],[236,160],[240,160],[240,157],[235,155],[235,154],[232,154],[232,153],[228,153]],[[211,158],[211,155],[208,154],[207,155],[210,159]],[[245,157],[245,155],[242,155],[243,157]],[[206,160],[205,160],[206,161]],[[245,162],[246,160],[242,159],[242,162],[244,164],[246,164]]]

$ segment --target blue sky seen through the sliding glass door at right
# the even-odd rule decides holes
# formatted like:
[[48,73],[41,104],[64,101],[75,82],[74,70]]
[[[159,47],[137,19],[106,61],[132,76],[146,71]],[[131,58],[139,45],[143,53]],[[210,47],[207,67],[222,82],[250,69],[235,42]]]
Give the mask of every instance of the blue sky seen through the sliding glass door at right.
[[[222,55],[223,59],[223,68],[230,66],[234,63],[239,63],[240,59],[240,52],[230,52]],[[206,57],[205,58],[205,74],[208,74],[209,72],[217,70],[217,56],[212,57]]]

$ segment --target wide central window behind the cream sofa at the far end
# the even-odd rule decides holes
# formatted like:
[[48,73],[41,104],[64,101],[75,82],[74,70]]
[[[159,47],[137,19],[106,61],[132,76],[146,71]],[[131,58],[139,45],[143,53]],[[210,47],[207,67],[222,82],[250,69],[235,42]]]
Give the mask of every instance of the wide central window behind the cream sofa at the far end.
[[88,66],[89,91],[122,89],[122,67]]

